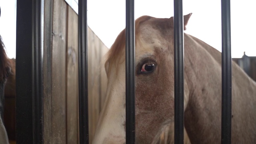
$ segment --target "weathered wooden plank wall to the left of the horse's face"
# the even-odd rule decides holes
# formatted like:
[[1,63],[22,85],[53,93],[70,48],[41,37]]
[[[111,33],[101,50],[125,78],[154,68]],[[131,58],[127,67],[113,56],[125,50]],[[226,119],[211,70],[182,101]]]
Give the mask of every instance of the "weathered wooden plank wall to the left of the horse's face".
[[[78,15],[64,0],[45,2],[45,12],[49,13],[45,14],[44,28],[44,142],[77,144]],[[49,49],[49,46],[52,48]],[[88,28],[90,142],[106,91],[107,79],[102,58],[107,51],[108,48]]]

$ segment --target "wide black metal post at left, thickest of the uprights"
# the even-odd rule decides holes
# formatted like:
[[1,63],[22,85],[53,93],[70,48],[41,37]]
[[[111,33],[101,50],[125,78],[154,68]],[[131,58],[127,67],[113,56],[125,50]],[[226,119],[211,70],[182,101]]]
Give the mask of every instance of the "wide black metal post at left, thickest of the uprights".
[[41,0],[17,0],[16,142],[43,143]]

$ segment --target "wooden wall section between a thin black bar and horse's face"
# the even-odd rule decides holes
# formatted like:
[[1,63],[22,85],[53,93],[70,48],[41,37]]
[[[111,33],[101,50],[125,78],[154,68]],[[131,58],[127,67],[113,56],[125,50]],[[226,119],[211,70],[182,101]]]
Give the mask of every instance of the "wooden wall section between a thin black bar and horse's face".
[[[106,73],[102,56],[108,48],[88,28],[88,104],[89,104],[89,141],[92,142],[100,109],[105,100]],[[102,77],[103,76],[103,77]]]

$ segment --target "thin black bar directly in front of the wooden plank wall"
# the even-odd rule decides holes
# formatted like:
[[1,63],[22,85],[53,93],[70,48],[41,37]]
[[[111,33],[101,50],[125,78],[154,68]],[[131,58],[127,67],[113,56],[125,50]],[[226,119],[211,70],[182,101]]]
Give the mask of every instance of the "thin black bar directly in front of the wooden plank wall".
[[89,144],[87,0],[78,0],[79,141]]

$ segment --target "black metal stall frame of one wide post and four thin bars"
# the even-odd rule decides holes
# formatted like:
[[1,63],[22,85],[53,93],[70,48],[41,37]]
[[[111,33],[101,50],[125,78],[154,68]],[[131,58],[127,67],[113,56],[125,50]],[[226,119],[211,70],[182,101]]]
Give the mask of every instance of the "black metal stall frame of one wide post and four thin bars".
[[[17,0],[16,28],[16,140],[43,143],[41,0]],[[230,0],[222,7],[222,144],[231,143]],[[87,0],[78,3],[79,131],[88,144]],[[43,22],[43,21],[42,21]],[[182,0],[174,0],[175,144],[184,138],[184,33]],[[135,143],[135,31],[134,0],[126,0],[126,144]]]

